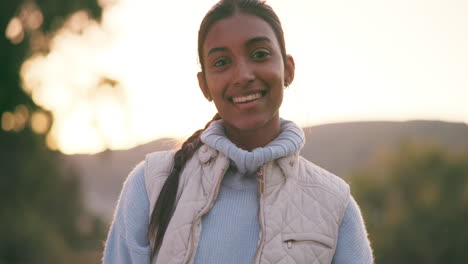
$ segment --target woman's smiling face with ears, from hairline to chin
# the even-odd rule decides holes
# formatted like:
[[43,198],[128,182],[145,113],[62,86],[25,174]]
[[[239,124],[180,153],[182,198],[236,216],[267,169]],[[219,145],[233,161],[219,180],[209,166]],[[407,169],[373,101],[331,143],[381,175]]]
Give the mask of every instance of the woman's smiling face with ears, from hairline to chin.
[[200,88],[213,99],[226,129],[279,124],[284,83],[294,78],[294,62],[290,56],[283,59],[267,22],[243,13],[216,22],[203,44],[203,63]]

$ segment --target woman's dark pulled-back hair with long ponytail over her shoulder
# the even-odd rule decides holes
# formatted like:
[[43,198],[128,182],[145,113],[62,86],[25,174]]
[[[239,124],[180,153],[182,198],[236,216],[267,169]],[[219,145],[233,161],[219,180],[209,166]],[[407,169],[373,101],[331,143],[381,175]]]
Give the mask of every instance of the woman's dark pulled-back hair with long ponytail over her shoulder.
[[[237,12],[257,16],[266,21],[272,27],[281,48],[281,55],[286,63],[286,46],[280,20],[273,9],[269,5],[265,4],[265,1],[221,0],[205,15],[198,31],[198,58],[202,72],[204,72],[205,69],[203,63],[203,44],[208,31],[217,21],[231,17]],[[174,166],[161,189],[151,214],[148,238],[150,240],[154,239],[153,257],[162,244],[164,234],[166,233],[167,226],[171,220],[174,210],[174,202],[177,195],[177,188],[179,185],[179,178],[182,170],[184,169],[185,163],[202,145],[200,140],[201,133],[211,124],[211,122],[217,119],[221,119],[219,114],[216,114],[214,118],[206,124],[204,129],[200,129],[190,136],[182,144],[182,147],[175,153]]]

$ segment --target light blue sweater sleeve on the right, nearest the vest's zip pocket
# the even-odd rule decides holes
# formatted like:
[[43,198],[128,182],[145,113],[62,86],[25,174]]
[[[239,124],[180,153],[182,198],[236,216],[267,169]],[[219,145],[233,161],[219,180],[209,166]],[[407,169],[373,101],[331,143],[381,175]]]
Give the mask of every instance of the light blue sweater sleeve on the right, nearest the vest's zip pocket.
[[351,197],[338,233],[332,264],[371,264],[372,249],[359,206]]

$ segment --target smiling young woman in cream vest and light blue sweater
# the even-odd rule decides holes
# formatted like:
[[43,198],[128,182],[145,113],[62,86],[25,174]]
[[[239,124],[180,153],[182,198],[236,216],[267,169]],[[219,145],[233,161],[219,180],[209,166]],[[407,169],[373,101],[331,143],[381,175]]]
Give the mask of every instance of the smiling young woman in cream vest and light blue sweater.
[[299,156],[304,134],[279,116],[295,65],[273,10],[221,0],[198,53],[218,114],[132,171],[104,263],[372,263],[349,186]]

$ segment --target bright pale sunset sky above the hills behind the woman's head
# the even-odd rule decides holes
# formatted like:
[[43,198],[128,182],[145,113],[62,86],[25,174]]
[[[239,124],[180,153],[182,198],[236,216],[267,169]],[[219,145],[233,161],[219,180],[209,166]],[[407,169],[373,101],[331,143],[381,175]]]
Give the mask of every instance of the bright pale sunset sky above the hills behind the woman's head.
[[[102,21],[75,13],[23,64],[24,89],[54,114],[50,146],[95,153],[203,127],[216,110],[198,88],[196,36],[216,1],[99,2]],[[468,123],[468,1],[267,3],[296,62],[284,118]]]

